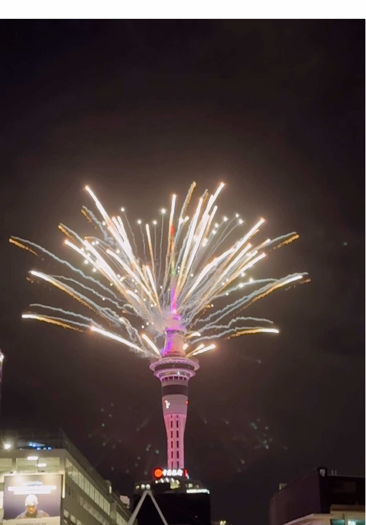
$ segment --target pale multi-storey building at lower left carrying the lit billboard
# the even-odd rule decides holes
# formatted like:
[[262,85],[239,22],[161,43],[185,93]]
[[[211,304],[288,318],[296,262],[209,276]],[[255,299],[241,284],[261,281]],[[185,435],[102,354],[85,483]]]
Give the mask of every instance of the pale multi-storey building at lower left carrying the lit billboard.
[[50,525],[127,525],[131,512],[121,498],[61,430],[0,432],[0,523],[11,525],[34,505],[39,516],[21,517],[46,516],[46,525],[48,518],[59,518]]

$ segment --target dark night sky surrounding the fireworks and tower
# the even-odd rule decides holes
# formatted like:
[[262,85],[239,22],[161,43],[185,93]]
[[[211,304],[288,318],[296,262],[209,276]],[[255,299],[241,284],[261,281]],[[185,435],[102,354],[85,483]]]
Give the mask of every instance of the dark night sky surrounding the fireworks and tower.
[[223,213],[300,234],[261,276],[308,271],[311,283],[251,310],[278,337],[202,356],[187,467],[210,487],[213,517],[234,525],[265,525],[278,482],[317,466],[362,474],[364,21],[34,20],[0,35],[2,426],[62,427],[121,492],[164,462],[147,363],[22,321],[29,303],[64,298],[26,281],[53,263],[7,239],[62,255],[60,221],[87,232],[86,183],[111,213],[151,220],[192,180],[224,180]]

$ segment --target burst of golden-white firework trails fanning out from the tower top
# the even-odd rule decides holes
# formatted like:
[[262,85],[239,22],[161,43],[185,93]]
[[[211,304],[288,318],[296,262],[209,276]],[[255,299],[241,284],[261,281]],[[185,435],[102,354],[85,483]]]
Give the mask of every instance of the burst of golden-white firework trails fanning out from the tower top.
[[[74,272],[74,276],[77,274],[75,279],[47,275],[38,269],[30,272],[32,279],[46,281],[87,307],[93,312],[93,318],[42,304],[31,306],[58,312],[62,317],[48,316],[47,312],[28,312],[23,317],[72,330],[91,329],[149,359],[163,356],[161,349],[168,327],[170,330],[174,327],[184,338],[183,350],[187,357],[214,349],[213,340],[278,333],[276,328],[268,328],[270,320],[243,317],[238,313],[279,288],[307,282],[307,274],[299,272],[246,281],[242,278],[254,266],[259,266],[269,251],[291,243],[298,235],[291,232],[256,242],[254,239],[264,219],[259,219],[247,231],[243,231],[244,221],[238,214],[231,219],[224,216],[220,221],[216,200],[223,186],[221,183],[212,195],[206,190],[194,207],[193,183],[179,214],[176,213],[177,197],[173,195],[170,213],[161,209],[159,246],[156,220],[152,221],[153,242],[149,225],[144,225],[146,242],[142,220],[138,219],[142,236],[140,255],[124,208],[121,208],[123,219],[110,217],[87,186],[100,219],[86,207],[82,213],[100,230],[102,238],[81,237],[64,224],[59,226],[66,236],[66,248],[77,254],[83,270],[32,241],[20,237],[9,240],[35,255],[41,252],[51,257]],[[166,213],[169,220],[164,226]],[[239,235],[233,239],[236,231]],[[89,271],[95,276],[88,275]],[[246,291],[248,287],[250,290]]]

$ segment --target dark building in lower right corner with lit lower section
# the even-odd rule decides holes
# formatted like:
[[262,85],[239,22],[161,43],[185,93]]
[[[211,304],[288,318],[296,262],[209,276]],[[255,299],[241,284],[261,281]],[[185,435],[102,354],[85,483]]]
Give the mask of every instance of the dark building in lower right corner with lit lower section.
[[270,525],[365,525],[365,478],[318,468],[270,500]]

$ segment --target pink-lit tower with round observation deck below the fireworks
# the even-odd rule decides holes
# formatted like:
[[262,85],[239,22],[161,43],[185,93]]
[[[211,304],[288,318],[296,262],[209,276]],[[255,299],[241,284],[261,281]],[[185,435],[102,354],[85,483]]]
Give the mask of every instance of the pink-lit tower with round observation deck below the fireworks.
[[[174,323],[171,323],[174,325]],[[181,330],[180,330],[181,328]],[[188,382],[199,365],[185,357],[183,327],[165,330],[163,358],[150,364],[161,382],[161,397],[166,430],[167,468],[184,468],[184,429],[187,417]]]

